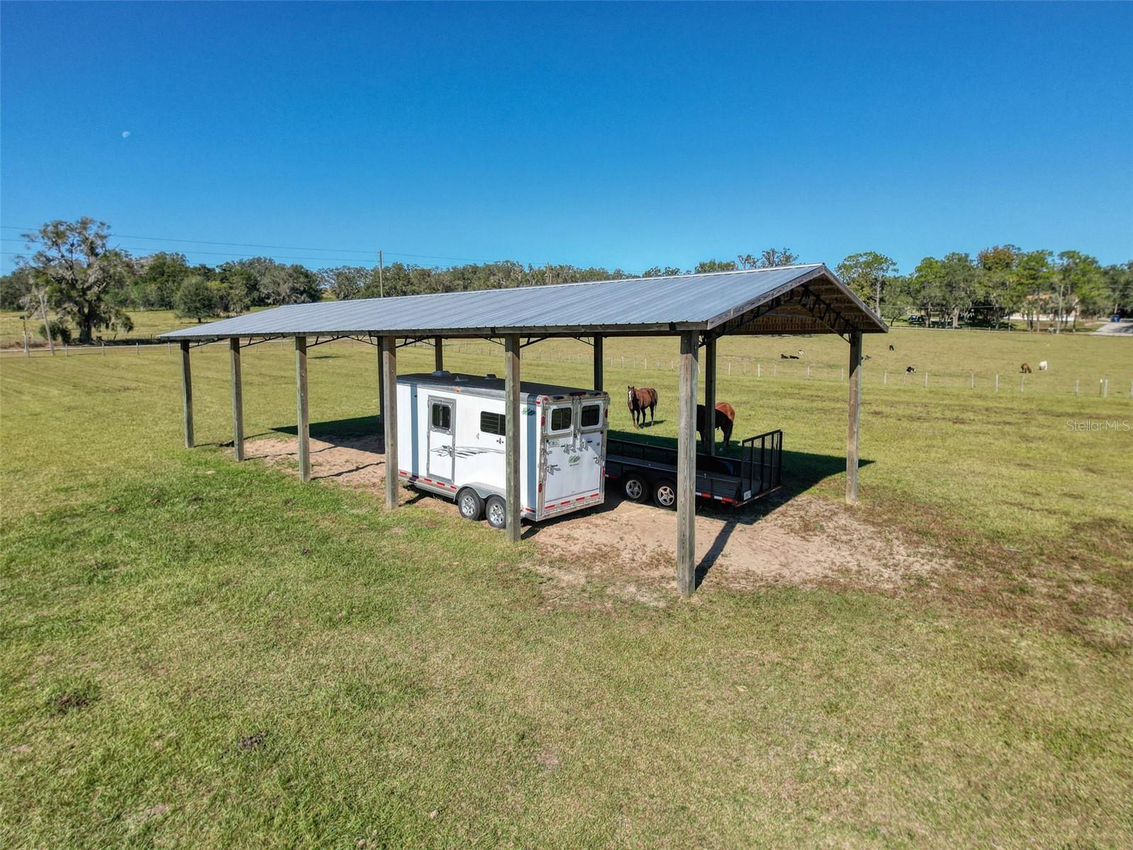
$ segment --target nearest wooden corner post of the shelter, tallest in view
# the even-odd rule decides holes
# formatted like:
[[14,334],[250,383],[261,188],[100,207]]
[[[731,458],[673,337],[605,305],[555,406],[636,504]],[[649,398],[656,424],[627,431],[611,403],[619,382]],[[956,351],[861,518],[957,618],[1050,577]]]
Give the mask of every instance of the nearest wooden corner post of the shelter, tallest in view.
[[696,331],[681,334],[681,389],[676,417],[676,589],[697,585],[697,377]]

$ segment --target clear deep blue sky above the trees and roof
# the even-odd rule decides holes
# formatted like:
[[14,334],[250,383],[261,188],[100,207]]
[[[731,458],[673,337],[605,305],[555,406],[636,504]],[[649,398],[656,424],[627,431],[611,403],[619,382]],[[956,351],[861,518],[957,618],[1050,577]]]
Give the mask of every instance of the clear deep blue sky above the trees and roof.
[[0,26],[5,252],[87,214],[134,253],[312,267],[1133,256],[1128,3],[5,2]]

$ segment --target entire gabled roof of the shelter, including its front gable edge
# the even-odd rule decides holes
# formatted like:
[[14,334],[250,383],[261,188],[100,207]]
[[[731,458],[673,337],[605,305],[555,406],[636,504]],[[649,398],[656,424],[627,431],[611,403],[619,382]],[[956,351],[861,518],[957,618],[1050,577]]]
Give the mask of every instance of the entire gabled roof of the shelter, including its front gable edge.
[[[707,331],[725,322],[732,328],[760,305],[763,330],[739,332],[841,332],[820,321],[812,301],[783,303],[783,296],[806,287],[838,316],[844,329],[885,332],[885,323],[823,264],[752,269],[665,278],[560,283],[512,289],[360,298],[293,304],[246,313],[161,335],[170,340],[300,334],[390,334],[400,337],[533,333],[672,333]],[[809,312],[808,312],[809,309]],[[780,317],[775,323],[776,315]]]

